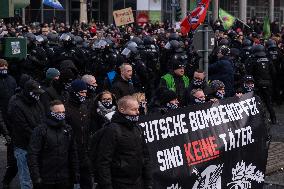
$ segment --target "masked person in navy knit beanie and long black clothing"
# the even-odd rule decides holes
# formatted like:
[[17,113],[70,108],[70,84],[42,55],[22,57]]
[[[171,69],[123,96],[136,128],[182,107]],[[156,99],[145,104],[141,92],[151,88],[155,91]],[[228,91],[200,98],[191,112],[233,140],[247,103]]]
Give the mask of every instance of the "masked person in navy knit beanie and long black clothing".
[[71,83],[70,97],[65,103],[66,123],[74,131],[74,139],[78,145],[80,165],[80,187],[92,189],[92,177],[89,160],[90,143],[90,109],[85,104],[87,97],[87,84],[79,79]]

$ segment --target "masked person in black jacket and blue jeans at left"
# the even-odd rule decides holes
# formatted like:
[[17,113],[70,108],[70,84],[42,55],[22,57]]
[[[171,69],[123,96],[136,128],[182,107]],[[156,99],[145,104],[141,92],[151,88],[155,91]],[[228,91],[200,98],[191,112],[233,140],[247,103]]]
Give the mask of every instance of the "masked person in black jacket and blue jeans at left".
[[45,119],[45,111],[39,98],[43,90],[34,80],[25,83],[21,94],[17,95],[10,108],[13,125],[14,155],[17,160],[21,189],[32,189],[27,164],[27,149],[33,129]]

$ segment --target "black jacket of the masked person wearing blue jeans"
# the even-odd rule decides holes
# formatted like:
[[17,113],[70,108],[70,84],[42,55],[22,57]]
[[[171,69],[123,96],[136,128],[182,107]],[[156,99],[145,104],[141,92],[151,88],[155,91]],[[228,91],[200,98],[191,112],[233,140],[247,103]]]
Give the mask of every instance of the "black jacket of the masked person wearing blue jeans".
[[9,120],[12,124],[14,145],[27,149],[32,131],[45,119],[45,111],[41,102],[30,101],[24,94],[18,94],[9,102]]

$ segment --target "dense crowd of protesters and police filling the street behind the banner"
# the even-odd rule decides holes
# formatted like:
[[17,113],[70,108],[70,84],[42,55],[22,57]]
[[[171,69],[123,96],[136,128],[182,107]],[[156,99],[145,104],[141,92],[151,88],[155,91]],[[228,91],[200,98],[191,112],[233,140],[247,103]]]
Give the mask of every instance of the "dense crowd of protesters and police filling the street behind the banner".
[[[140,116],[255,92],[276,124],[284,99],[284,35],[213,25],[208,72],[192,36],[169,24],[0,25],[27,38],[24,60],[0,59],[0,134],[7,189],[150,189]],[[205,77],[208,74],[209,81]]]

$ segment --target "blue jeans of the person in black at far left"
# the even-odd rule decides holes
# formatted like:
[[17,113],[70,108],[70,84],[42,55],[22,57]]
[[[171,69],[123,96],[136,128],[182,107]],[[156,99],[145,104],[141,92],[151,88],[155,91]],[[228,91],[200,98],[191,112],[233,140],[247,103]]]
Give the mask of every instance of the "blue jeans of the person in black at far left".
[[28,162],[27,162],[27,151],[21,148],[15,147],[14,155],[17,160],[18,173],[20,179],[21,189],[32,189],[33,184],[30,177]]

